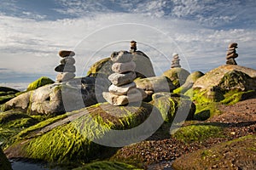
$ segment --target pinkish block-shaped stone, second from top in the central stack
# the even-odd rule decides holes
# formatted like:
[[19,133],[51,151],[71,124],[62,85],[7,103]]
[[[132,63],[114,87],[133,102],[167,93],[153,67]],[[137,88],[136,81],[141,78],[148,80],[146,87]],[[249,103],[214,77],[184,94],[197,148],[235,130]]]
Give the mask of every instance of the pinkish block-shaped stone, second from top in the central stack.
[[126,62],[126,63],[114,63],[112,65],[112,71],[115,73],[124,73],[128,71],[135,71],[136,64],[134,61]]

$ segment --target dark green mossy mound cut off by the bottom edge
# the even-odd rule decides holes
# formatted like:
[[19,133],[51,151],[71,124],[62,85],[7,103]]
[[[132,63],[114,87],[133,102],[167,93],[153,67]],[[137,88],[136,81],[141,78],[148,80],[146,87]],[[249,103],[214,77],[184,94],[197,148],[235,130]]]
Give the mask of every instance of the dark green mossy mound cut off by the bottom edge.
[[108,170],[125,170],[125,169],[137,169],[132,165],[128,165],[119,161],[96,161],[85,165],[84,167],[75,168],[73,170],[100,170],[100,169],[108,169]]

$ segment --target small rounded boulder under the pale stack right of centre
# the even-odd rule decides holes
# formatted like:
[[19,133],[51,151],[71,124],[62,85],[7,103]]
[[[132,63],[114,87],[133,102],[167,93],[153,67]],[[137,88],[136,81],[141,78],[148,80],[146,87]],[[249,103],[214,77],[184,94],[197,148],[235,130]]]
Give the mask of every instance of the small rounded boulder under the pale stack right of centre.
[[189,71],[186,71],[183,68],[172,68],[163,73],[163,76],[169,78],[172,81],[172,84],[176,88],[183,85],[186,82],[187,77],[189,77]]

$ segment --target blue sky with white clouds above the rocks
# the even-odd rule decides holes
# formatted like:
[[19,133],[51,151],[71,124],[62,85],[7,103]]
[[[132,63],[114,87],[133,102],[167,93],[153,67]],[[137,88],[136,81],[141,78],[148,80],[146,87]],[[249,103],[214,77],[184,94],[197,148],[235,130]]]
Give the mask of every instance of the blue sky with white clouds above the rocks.
[[[237,42],[238,65],[256,69],[254,0],[0,0],[0,85],[55,80],[58,52],[73,50],[76,75],[113,51],[138,50],[160,76],[177,53],[184,69],[225,64]],[[11,85],[12,84],[12,85]]]

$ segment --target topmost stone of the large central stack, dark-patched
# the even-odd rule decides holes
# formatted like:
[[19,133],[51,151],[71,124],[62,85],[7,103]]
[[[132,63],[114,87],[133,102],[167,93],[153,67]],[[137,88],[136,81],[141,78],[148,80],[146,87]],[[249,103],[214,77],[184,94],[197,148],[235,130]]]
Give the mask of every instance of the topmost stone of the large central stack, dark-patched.
[[113,61],[113,63],[126,63],[133,59],[133,55],[128,51],[113,52],[110,59]]

